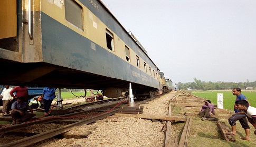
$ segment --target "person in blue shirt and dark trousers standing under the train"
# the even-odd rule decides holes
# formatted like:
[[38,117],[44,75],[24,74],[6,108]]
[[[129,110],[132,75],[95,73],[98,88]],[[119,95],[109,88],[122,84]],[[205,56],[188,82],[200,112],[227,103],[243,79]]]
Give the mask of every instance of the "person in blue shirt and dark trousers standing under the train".
[[56,90],[56,88],[51,88],[51,87],[45,87],[43,89],[42,98],[43,98],[43,102],[44,102],[44,115],[45,116],[48,115],[52,101],[56,97],[55,90]]

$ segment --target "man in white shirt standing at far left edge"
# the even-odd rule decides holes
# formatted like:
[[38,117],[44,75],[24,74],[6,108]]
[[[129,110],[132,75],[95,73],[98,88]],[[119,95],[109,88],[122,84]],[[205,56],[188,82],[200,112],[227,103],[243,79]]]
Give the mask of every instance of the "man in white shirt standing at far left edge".
[[0,98],[3,98],[3,109],[2,109],[2,113],[0,114],[1,116],[3,116],[5,113],[6,114],[10,114],[10,108],[8,108],[10,102],[13,100],[13,97],[10,95],[10,91],[12,90],[12,88],[8,85],[5,85],[5,89],[3,90],[3,92],[1,93]]

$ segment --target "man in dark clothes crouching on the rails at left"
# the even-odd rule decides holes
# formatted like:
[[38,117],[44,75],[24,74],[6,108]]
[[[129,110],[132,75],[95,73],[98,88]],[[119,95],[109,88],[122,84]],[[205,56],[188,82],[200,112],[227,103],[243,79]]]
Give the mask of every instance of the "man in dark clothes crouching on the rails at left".
[[[13,119],[13,124],[20,124],[35,116],[29,104],[23,100],[24,97],[17,97],[17,101],[12,104],[13,111],[11,112],[11,116]],[[30,110],[31,113],[27,112],[27,110]]]

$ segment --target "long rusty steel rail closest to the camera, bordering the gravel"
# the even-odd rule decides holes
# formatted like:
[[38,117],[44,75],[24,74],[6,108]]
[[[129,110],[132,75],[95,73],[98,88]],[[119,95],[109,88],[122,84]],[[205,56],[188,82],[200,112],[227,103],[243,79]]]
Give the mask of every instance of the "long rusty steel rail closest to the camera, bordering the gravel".
[[18,141],[14,141],[12,143],[8,143],[8,144],[4,144],[4,145],[0,145],[1,147],[7,147],[7,146],[18,146],[18,147],[22,147],[22,146],[27,146],[27,145],[31,145],[33,143],[54,137],[55,135],[61,134],[61,133],[65,133],[68,132],[69,130],[71,130],[73,127],[78,126],[78,125],[83,125],[83,124],[88,124],[88,123],[92,123],[94,121],[103,119],[107,116],[111,116],[112,114],[115,114],[118,110],[115,111],[111,111],[105,114],[101,114],[100,116],[96,116],[87,120],[82,120],[79,122],[75,122],[69,125],[65,125],[63,127],[48,131],[48,132],[44,132],[44,133],[40,133],[37,135],[33,135],[32,137],[28,137],[28,138],[24,138],[22,140],[18,140]]

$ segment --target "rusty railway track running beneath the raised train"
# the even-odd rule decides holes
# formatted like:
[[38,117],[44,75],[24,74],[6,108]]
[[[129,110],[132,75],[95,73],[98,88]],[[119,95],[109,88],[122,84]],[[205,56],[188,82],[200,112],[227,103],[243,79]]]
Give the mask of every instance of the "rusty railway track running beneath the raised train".
[[[27,127],[29,127],[30,125],[33,125],[33,124],[40,125],[40,124],[53,123],[53,122],[57,123],[58,121],[60,122],[60,121],[66,120],[66,119],[75,119],[75,121],[68,121],[68,122],[72,122],[72,123],[63,125],[60,128],[56,128],[56,129],[46,131],[43,133],[39,133],[39,134],[34,134],[31,137],[13,141],[11,143],[7,143],[7,144],[0,145],[0,146],[27,146],[27,145],[54,137],[55,135],[68,132],[69,130],[71,130],[71,128],[73,128],[75,126],[89,124],[89,123],[95,122],[97,120],[100,120],[102,118],[106,118],[106,117],[111,116],[112,114],[115,114],[119,111],[119,109],[115,108],[115,107],[117,106],[118,103],[121,103],[121,102],[119,102],[120,100],[122,100],[121,102],[124,102],[124,98],[120,98],[120,99],[110,99],[110,100],[105,100],[105,101],[96,101],[96,102],[90,102],[90,103],[86,103],[86,104],[80,104],[77,106],[69,107],[67,109],[78,109],[79,110],[79,108],[81,108],[81,107],[88,107],[88,106],[91,106],[92,104],[99,104],[99,106],[102,106],[102,103],[106,103],[106,102],[108,103],[109,101],[112,101],[110,104],[103,106],[103,107],[98,107],[98,108],[96,107],[96,108],[87,109],[87,110],[79,110],[77,112],[65,114],[65,115],[58,116],[58,117],[53,117],[53,116],[45,117],[45,118],[41,118],[39,120],[35,120],[35,121],[31,121],[31,122],[25,122],[22,124],[12,125],[10,127],[0,128],[0,135],[8,134],[11,132],[27,133],[27,131],[24,131],[24,130],[26,130]],[[141,104],[141,103],[144,103],[144,102],[147,102],[150,100],[152,100],[152,99],[139,101],[136,104]],[[117,101],[117,102],[113,102],[113,101]],[[99,114],[98,111],[100,111],[101,114]]]

